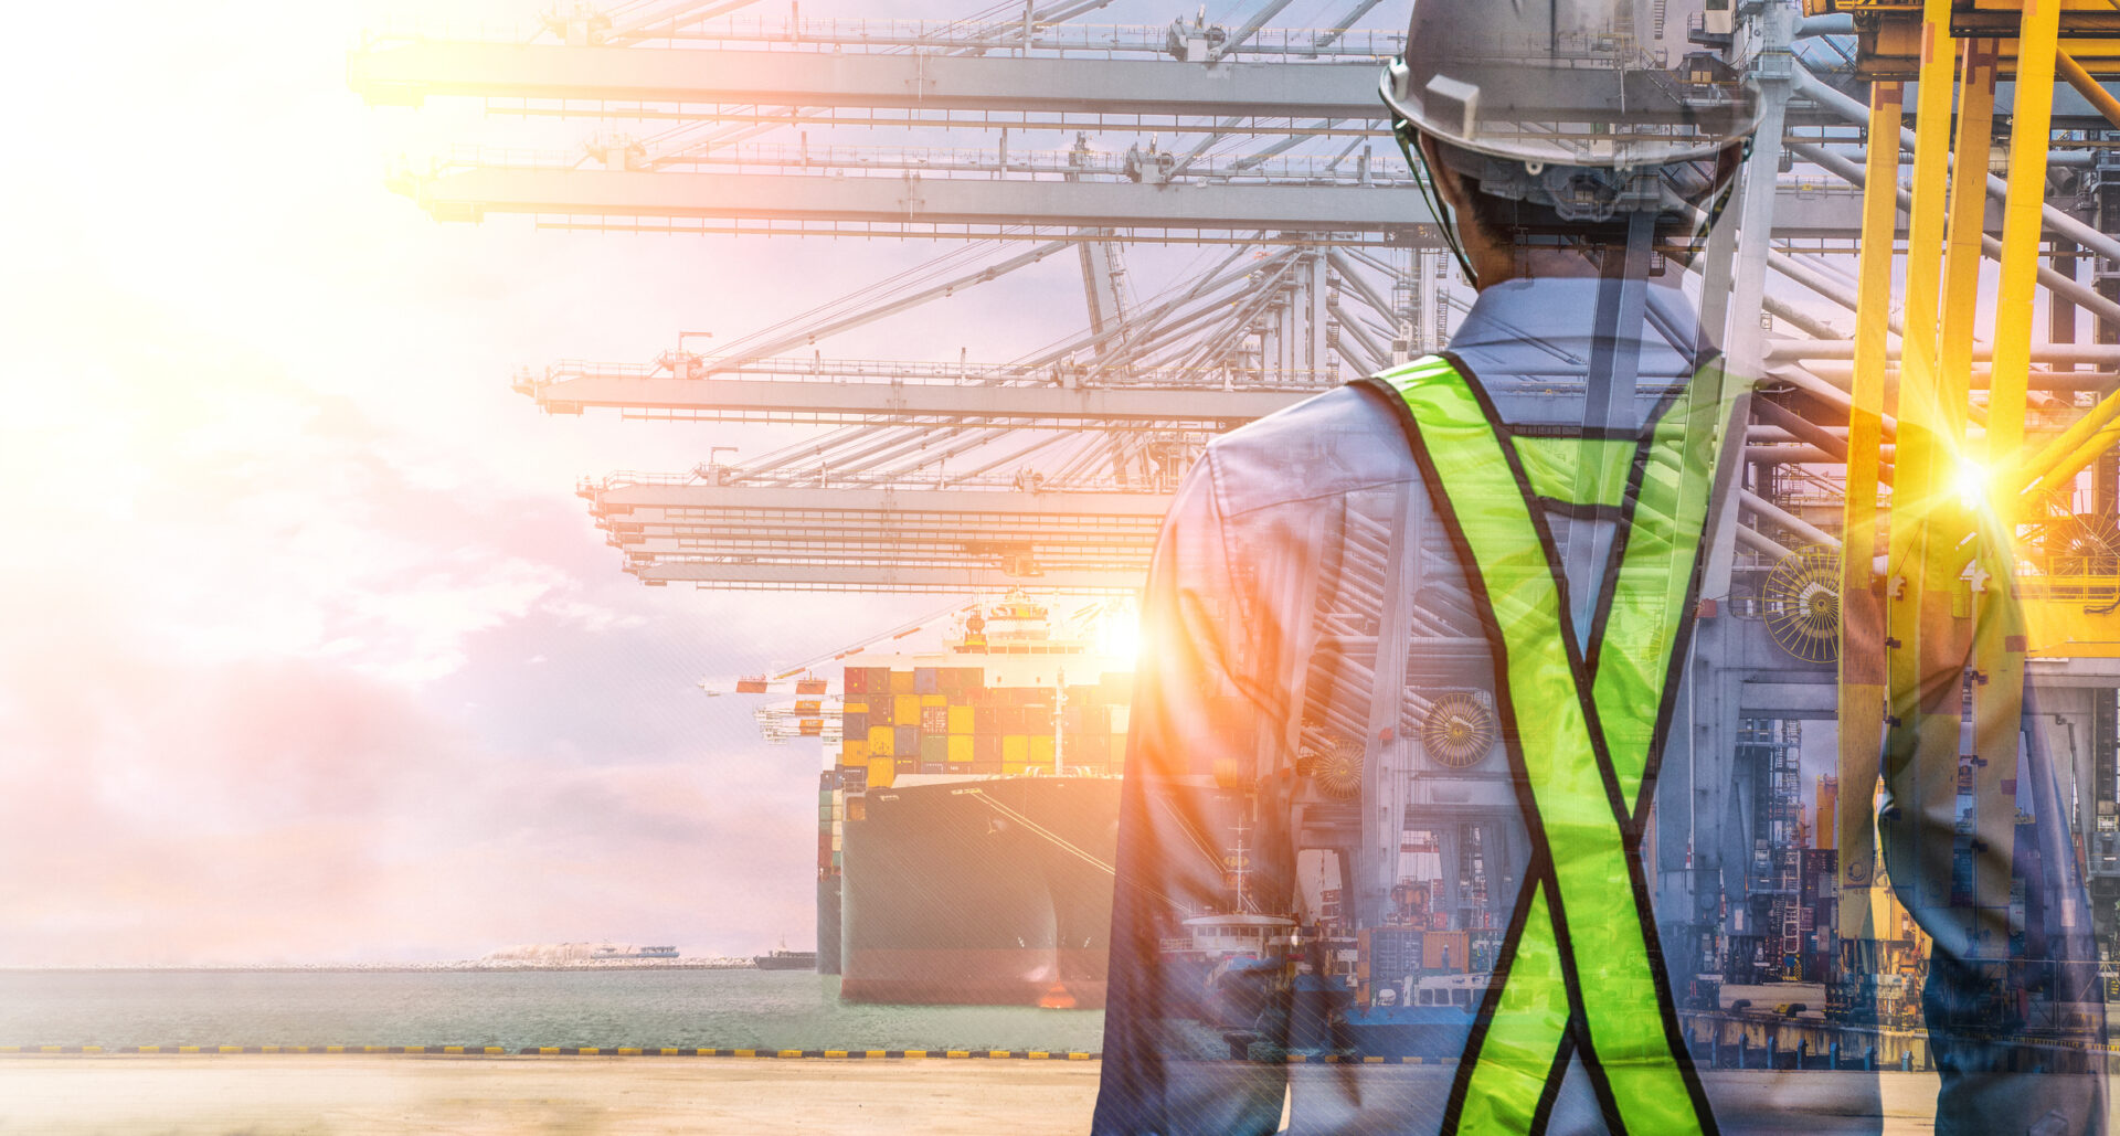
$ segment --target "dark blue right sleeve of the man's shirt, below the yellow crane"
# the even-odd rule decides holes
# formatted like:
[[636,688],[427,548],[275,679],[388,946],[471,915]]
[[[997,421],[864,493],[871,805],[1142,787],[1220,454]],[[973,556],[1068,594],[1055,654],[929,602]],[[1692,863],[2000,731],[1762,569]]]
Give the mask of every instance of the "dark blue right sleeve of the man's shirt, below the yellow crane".
[[[1991,619],[2006,617],[2016,619]],[[1921,689],[1950,691],[1944,712],[1955,718],[1963,670],[1944,659],[1925,668]],[[1965,738],[1972,752],[1959,752],[1950,723],[1942,744],[1887,744],[1883,761],[1885,865],[1929,937],[1921,1017],[1940,1079],[1936,1130],[2105,1132],[2105,1000],[2061,778],[2075,742],[2039,712],[2042,695],[2069,706],[2071,693],[2042,691],[2020,655],[2014,665],[2022,708],[1978,723]]]

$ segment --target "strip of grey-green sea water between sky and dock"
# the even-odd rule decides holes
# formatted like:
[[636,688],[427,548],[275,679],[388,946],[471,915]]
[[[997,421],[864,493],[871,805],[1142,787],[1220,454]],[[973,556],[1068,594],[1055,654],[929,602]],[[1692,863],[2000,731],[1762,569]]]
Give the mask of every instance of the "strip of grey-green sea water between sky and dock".
[[1102,1011],[840,1002],[803,971],[0,971],[0,1045],[1096,1051]]

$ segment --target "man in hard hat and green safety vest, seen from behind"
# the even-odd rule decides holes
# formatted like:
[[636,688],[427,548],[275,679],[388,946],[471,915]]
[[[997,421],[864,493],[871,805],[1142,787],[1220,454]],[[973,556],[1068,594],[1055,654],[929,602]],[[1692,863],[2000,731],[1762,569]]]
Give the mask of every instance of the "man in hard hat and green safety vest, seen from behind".
[[[1285,1108],[1304,1134],[1876,1113],[1874,1075],[1791,1066],[1897,1068],[1883,1041],[1783,1047],[1770,1022],[1728,1045],[1683,1017],[1743,1017],[1715,952],[1785,958],[1730,935],[1764,905],[1694,880],[1685,844],[1724,822],[1692,818],[1694,784],[1753,774],[1664,752],[1743,445],[1743,381],[1679,288],[1757,123],[1688,38],[1704,4],[1728,19],[1416,0],[1382,95],[1478,301],[1448,352],[1217,439],[1164,523],[1098,1136],[1264,1134]],[[1991,1058],[1944,1068],[1940,1130],[2103,1130],[2097,1079],[2033,1106],[2022,1051]]]

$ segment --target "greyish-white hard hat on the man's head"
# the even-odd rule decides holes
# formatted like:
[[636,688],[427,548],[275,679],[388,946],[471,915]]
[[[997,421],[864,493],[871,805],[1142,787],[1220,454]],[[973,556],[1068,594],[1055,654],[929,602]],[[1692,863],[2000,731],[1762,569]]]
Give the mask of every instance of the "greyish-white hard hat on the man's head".
[[1382,95],[1444,142],[1531,165],[1639,170],[1715,157],[1760,123],[1711,45],[1732,0],[1414,0]]

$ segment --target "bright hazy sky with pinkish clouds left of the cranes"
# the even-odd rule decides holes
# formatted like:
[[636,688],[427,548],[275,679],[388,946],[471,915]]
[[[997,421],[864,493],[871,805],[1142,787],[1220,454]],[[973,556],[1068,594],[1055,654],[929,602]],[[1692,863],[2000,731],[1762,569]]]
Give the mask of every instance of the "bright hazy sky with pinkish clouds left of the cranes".
[[[937,250],[439,225],[390,161],[522,138],[346,89],[405,11],[55,6],[0,47],[0,966],[812,939],[820,752],[695,682],[943,598],[640,587],[577,477],[784,439],[547,418],[509,375],[731,337]],[[1024,312],[1079,282],[1024,276],[888,354],[1064,331]]]

